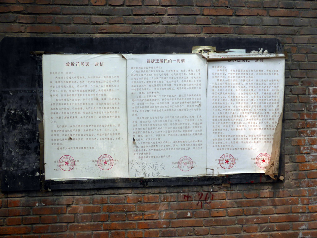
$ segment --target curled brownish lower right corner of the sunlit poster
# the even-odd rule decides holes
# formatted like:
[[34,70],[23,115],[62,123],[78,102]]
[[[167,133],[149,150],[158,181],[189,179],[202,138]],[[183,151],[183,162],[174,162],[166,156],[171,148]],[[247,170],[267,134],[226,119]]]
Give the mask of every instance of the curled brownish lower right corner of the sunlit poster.
[[281,148],[281,133],[282,133],[282,118],[283,113],[281,113],[273,136],[273,143],[272,143],[272,152],[271,152],[271,159],[266,166],[265,174],[269,175],[271,179],[276,180],[278,174],[278,167],[279,167],[279,159],[280,159],[280,148]]

